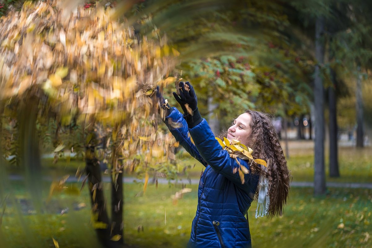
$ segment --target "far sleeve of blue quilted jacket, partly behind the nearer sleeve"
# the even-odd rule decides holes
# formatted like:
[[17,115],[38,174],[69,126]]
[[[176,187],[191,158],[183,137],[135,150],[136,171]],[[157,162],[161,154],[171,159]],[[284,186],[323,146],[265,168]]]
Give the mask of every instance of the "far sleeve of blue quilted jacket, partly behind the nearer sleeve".
[[165,118],[164,123],[167,125],[174,138],[176,138],[176,141],[180,142],[180,145],[185,148],[192,157],[196,158],[204,166],[207,166],[207,163],[199,154],[198,149],[196,149],[196,146],[191,142],[187,122],[183,119],[183,115],[178,109],[171,107],[170,114]]

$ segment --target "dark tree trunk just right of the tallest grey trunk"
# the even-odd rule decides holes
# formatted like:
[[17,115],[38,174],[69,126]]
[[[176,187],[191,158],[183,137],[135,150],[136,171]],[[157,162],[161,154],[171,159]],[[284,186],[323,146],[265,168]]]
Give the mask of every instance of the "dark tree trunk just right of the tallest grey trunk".
[[340,177],[339,161],[337,154],[337,98],[336,98],[336,75],[331,69],[331,79],[333,86],[328,88],[328,108],[329,108],[329,175],[330,177]]

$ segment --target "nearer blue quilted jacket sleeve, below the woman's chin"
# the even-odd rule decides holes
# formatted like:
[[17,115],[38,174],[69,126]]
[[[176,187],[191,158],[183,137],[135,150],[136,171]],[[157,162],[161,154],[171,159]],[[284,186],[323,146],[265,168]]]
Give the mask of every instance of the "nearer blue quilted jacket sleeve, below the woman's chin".
[[[230,157],[226,150],[222,149],[205,119],[189,131],[202,158],[217,173],[224,175],[238,187],[246,191],[246,193],[256,191],[258,175],[251,173],[245,174],[245,183],[241,183],[239,173],[234,173],[234,168],[238,169],[240,165],[234,158]],[[238,161],[250,170],[247,161],[240,158],[238,158]]]

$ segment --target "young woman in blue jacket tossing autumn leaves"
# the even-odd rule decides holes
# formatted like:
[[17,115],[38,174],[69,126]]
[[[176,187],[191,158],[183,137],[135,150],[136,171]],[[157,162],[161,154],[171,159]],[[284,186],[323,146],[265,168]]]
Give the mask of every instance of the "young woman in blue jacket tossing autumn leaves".
[[[254,197],[260,205],[256,218],[273,217],[282,215],[289,191],[289,170],[270,118],[247,110],[234,120],[226,134],[229,141],[238,140],[252,148],[254,158],[270,161],[264,169],[244,158],[232,158],[222,149],[198,111],[198,100],[189,82],[180,82],[180,93],[173,95],[184,114],[169,107],[157,91],[161,106],[168,111],[164,122],[180,145],[206,167],[199,181],[198,208],[187,247],[251,247],[245,215]],[[240,166],[249,171],[244,180],[237,172]]]

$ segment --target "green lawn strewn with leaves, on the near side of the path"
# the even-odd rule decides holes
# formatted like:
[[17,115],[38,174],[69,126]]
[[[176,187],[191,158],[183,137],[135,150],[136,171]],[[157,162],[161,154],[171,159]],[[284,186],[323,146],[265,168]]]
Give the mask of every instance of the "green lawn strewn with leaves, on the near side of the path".
[[[32,202],[24,203],[30,197],[22,182],[11,182],[1,188],[0,195],[5,192],[9,197],[0,227],[0,247],[54,247],[53,237],[63,248],[96,248],[87,189],[78,196],[57,194],[47,203],[48,187],[45,183],[39,201],[44,212],[38,214],[28,210],[33,208]],[[143,185],[125,184],[125,243],[136,248],[185,247],[198,202],[198,186],[188,187],[192,192],[174,202],[171,196],[180,190],[174,185],[159,184],[156,189],[150,184],[144,196],[136,197]],[[372,190],[328,190],[327,196],[313,197],[310,188],[292,188],[284,216],[271,220],[255,219],[253,202],[248,213],[253,247],[372,247]],[[78,203],[86,203],[87,207],[74,210]],[[60,215],[65,207],[70,210]]]

